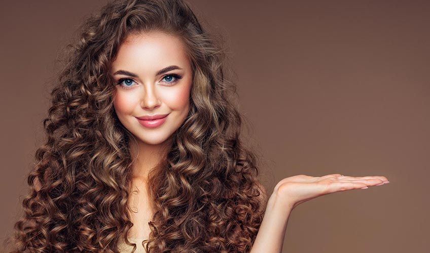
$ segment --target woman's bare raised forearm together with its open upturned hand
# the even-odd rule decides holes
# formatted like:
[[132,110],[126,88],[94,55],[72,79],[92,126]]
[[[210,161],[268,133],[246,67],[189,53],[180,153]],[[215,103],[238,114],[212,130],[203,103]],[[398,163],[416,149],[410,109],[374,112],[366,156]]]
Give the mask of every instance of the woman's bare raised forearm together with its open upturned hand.
[[284,178],[273,189],[251,253],[281,253],[286,226],[292,210],[313,198],[339,191],[367,189],[387,184],[383,176],[349,177],[330,174],[322,177],[297,175]]

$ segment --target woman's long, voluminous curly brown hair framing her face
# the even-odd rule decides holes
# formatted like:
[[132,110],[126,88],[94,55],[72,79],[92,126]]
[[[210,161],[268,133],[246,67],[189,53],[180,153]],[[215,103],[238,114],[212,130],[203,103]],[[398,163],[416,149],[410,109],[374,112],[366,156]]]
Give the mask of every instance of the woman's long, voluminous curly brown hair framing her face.
[[240,139],[221,36],[203,29],[183,0],[129,0],[87,17],[66,47],[10,252],[120,252],[120,239],[136,249],[127,238],[136,139],[114,111],[109,70],[127,35],[152,30],[182,39],[193,86],[188,116],[149,175],[155,213],[142,245],[154,253],[250,250],[265,191],[256,154]]

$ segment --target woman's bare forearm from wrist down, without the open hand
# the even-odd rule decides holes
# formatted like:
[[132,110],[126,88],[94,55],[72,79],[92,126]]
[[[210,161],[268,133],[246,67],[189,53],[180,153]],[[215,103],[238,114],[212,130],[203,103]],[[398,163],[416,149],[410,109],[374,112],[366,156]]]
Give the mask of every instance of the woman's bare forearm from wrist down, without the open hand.
[[279,204],[277,195],[272,195],[266,207],[263,221],[250,253],[280,253],[285,237],[286,225],[292,206]]

